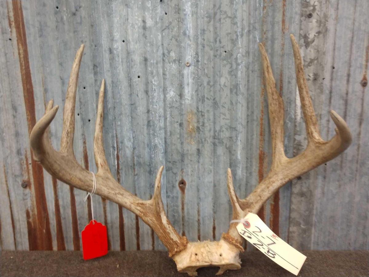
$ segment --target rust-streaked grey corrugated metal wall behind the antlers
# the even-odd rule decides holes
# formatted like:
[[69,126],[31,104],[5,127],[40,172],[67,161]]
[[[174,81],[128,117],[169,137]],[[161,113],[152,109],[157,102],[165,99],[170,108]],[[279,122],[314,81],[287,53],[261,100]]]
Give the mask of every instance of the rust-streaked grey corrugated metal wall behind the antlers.
[[[369,249],[367,0],[1,1],[0,13],[1,249],[80,249],[91,218],[86,193],[35,163],[28,136],[49,99],[63,106],[82,43],[77,160],[96,170],[94,121],[105,78],[104,147],[113,175],[147,199],[164,165],[173,226],[190,240],[219,239],[231,218],[227,167],[245,197],[270,164],[259,41],[284,100],[286,153],[306,146],[290,33],[323,138],[334,134],[334,109],[354,140],[280,189],[261,216],[298,249]],[[61,131],[59,111],[51,125],[56,148]],[[163,249],[134,214],[99,196],[93,201],[110,249]]]

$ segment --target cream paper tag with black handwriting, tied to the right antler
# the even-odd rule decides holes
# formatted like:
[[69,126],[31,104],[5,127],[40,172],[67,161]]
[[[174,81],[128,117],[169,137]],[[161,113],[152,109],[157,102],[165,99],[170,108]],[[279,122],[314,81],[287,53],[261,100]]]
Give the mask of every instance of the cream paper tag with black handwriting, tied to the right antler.
[[255,213],[248,213],[237,225],[238,233],[272,261],[297,275],[306,256],[277,237]]

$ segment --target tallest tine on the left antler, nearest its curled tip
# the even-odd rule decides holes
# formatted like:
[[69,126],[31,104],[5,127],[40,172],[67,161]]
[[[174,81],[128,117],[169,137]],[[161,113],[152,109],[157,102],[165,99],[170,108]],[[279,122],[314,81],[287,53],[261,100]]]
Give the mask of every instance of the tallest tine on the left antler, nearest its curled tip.
[[64,111],[63,111],[63,132],[60,143],[60,152],[72,154],[73,152],[73,138],[75,128],[75,107],[76,107],[76,92],[79,75],[79,67],[81,65],[81,59],[83,49],[85,45],[82,44],[77,51],[76,57],[74,58],[72,71],[70,71],[69,83],[65,98]]

